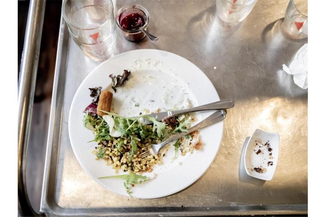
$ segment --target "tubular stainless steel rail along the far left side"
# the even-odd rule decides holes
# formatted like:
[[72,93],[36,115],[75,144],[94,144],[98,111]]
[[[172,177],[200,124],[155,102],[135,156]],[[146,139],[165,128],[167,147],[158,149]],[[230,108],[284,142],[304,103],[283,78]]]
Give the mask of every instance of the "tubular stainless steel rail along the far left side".
[[18,212],[21,216],[41,215],[30,204],[25,168],[44,11],[45,0],[30,2],[18,82]]

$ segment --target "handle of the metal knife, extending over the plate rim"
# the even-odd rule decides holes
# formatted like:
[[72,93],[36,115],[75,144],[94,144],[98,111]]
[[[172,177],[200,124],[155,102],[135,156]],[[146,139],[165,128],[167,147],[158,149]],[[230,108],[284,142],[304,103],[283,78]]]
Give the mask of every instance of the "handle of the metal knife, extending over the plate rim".
[[216,110],[216,109],[228,109],[228,108],[232,108],[233,106],[234,106],[234,100],[226,99],[217,102],[211,102],[206,105],[200,105],[193,108],[173,111],[173,115],[182,115],[190,112],[208,111],[208,110]]

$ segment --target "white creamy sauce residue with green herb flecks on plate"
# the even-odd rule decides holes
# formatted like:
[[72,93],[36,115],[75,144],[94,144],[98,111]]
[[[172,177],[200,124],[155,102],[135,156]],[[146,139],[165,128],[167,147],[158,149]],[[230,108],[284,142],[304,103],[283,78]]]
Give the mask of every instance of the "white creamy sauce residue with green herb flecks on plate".
[[[147,113],[190,108],[197,101],[175,72],[160,61],[137,60],[128,68],[129,80],[113,93],[111,112],[131,117]],[[118,73],[115,73],[117,75]]]

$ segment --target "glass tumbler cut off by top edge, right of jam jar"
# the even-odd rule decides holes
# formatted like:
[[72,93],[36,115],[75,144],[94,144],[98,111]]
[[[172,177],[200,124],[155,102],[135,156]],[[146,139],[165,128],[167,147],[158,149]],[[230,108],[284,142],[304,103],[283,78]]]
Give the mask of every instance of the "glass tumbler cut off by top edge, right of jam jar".
[[216,13],[224,22],[241,22],[248,16],[256,2],[257,0],[216,0]]

